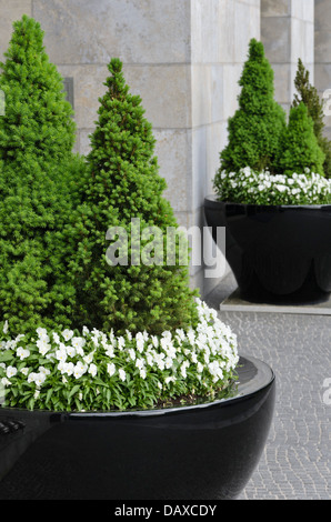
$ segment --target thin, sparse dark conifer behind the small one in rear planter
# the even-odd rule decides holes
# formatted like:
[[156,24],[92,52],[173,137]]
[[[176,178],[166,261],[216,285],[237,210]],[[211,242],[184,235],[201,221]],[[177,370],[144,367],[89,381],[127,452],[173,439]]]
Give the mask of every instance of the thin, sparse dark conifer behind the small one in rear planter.
[[313,87],[309,81],[309,71],[305,70],[302,60],[298,60],[298,70],[294,80],[294,86],[297,92],[294,94],[294,100],[292,107],[298,107],[302,101],[308,109],[308,114],[313,120],[313,130],[318,139],[319,145],[325,154],[323,171],[327,178],[331,177],[331,142],[327,137],[323,135],[324,124],[324,113],[323,113],[323,103],[320,100],[315,87]]

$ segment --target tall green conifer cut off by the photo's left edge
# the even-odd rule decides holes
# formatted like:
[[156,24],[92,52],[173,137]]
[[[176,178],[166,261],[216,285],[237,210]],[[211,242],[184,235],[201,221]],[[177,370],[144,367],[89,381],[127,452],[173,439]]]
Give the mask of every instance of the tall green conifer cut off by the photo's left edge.
[[0,315],[19,333],[67,324],[74,302],[62,228],[83,164],[71,152],[72,109],[42,41],[40,24],[23,16],[0,64]]

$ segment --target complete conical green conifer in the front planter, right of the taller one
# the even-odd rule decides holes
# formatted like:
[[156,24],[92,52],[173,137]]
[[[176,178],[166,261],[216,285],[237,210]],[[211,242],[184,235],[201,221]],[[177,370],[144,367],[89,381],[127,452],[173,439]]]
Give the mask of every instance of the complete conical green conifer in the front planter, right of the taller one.
[[[178,225],[162,195],[165,182],[153,155],[152,128],[140,97],[129,91],[122,62],[112,59],[109,71],[91,135],[84,203],[73,232],[79,241],[71,273],[82,303],[77,317],[117,333],[184,328],[197,319],[194,293],[188,285],[187,261],[167,264],[165,231],[168,227],[177,231]],[[126,237],[123,248],[119,247],[121,263],[110,263],[106,255],[114,244],[107,232],[116,227],[128,234],[128,249]],[[142,238],[148,227],[161,230],[162,238],[153,245],[154,257],[142,259],[151,244]]]

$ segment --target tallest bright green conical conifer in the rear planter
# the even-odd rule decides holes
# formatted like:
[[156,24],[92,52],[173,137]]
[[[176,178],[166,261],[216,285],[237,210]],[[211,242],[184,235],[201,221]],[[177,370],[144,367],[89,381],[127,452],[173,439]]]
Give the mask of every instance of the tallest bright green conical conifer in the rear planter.
[[220,154],[215,188],[221,185],[223,170],[238,172],[244,167],[258,171],[272,169],[285,126],[285,113],[273,99],[273,70],[264,56],[263,44],[255,39],[250,41],[239,84],[239,108],[229,119],[229,140]]

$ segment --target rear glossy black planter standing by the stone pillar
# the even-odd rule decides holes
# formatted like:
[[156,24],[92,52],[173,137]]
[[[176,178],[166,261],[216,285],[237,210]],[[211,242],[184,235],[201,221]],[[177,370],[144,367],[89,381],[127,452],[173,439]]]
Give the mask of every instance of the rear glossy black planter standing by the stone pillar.
[[331,291],[331,205],[257,205],[204,200],[217,241],[241,297],[252,302],[313,303]]

